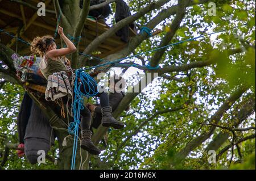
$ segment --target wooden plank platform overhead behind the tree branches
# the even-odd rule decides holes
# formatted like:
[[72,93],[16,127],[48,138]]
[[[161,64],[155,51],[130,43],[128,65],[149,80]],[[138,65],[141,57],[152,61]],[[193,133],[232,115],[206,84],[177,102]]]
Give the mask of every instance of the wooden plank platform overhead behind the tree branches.
[[[36,7],[38,0],[27,0],[26,3]],[[11,35],[18,35],[25,41],[31,43],[36,36],[54,35],[56,30],[56,15],[52,0],[46,0],[46,9],[53,13],[46,12],[46,16],[38,16],[37,11],[32,7],[20,5],[17,2],[9,0],[0,0],[0,28]],[[89,43],[91,43],[97,36],[109,30],[109,26],[105,22],[96,22],[96,20],[87,18],[84,30],[82,31],[82,38],[79,42],[79,50],[82,52]],[[156,31],[155,33],[159,33]],[[130,37],[137,35],[130,28]],[[9,46],[13,50],[17,50],[20,55],[31,54],[30,47],[16,39],[0,32],[1,43]],[[60,45],[59,36],[56,37],[56,43]],[[115,53],[126,46],[126,43],[121,41],[120,37],[113,35],[102,43],[96,50],[98,56],[104,58],[109,54]],[[16,49],[18,47],[18,49]]]

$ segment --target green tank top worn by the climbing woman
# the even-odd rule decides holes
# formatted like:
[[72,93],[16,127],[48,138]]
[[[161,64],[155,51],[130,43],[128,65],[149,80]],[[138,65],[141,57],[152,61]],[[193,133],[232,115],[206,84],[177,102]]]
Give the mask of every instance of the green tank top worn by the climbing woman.
[[40,69],[42,74],[46,79],[48,79],[49,75],[59,72],[59,71],[67,71],[64,62],[59,59],[52,60],[51,58],[47,59],[47,66],[44,69]]

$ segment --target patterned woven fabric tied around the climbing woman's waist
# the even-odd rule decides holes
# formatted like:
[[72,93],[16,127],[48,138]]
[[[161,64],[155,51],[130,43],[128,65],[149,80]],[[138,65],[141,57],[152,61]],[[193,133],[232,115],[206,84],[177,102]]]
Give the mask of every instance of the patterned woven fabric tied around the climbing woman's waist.
[[66,95],[68,95],[69,99],[72,99],[71,81],[65,71],[49,75],[45,95],[46,100],[55,101]]

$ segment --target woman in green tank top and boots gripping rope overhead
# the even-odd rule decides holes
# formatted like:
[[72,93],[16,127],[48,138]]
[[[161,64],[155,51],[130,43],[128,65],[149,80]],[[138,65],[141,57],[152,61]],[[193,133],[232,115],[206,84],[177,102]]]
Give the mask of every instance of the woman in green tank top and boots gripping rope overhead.
[[[42,57],[39,68],[47,79],[46,100],[61,100],[68,104],[69,99],[72,99],[73,89],[73,70],[67,58],[60,58],[67,54],[76,52],[76,47],[63,32],[63,28],[58,27],[60,37],[65,41],[67,48],[57,49],[55,40],[52,36],[35,37],[31,43],[31,51],[39,54]],[[96,85],[97,86],[97,85]],[[96,87],[94,87],[97,90]],[[85,90],[84,90],[85,89]],[[89,85],[82,85],[80,91],[85,94],[89,90]],[[109,96],[106,92],[98,93],[96,96],[100,97],[102,126],[114,127],[121,129],[124,127],[123,123],[117,121],[112,116],[111,108],[109,106]],[[62,99],[63,98],[63,99]],[[101,151],[91,141],[92,132],[90,131],[90,111],[84,106],[80,111],[81,115],[81,148],[89,151],[90,154],[100,154]]]

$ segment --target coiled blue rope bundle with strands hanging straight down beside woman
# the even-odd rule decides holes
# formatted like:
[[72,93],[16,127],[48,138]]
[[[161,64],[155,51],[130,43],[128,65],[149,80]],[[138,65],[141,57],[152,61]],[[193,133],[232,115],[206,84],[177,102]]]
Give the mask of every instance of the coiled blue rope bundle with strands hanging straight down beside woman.
[[[79,79],[81,82],[79,82]],[[81,92],[81,89],[84,89],[85,94]],[[74,170],[76,165],[76,151],[77,151],[77,138],[79,137],[80,110],[84,109],[84,99],[82,98],[82,96],[86,96],[87,98],[89,98],[91,96],[95,96],[98,94],[97,82],[95,81],[95,79],[90,77],[88,73],[81,71],[81,69],[76,70],[74,94],[75,94],[75,99],[73,101],[74,121],[69,123],[69,126],[68,126],[68,132],[75,135],[74,144],[73,144],[71,170]]]

